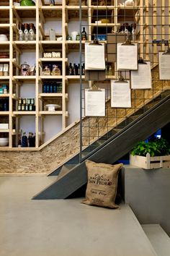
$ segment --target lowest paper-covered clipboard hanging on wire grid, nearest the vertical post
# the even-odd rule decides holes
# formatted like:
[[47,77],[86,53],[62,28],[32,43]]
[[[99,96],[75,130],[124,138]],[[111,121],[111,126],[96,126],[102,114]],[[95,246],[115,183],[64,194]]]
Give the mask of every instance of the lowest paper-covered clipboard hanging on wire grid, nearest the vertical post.
[[85,89],[85,116],[105,116],[105,89]]

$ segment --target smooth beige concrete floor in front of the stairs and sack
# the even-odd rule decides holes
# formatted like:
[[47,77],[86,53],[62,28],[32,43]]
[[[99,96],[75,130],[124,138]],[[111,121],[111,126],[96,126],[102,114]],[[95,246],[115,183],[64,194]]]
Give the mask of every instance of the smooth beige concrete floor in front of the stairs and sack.
[[0,256],[156,255],[130,208],[31,200],[46,176],[0,176]]

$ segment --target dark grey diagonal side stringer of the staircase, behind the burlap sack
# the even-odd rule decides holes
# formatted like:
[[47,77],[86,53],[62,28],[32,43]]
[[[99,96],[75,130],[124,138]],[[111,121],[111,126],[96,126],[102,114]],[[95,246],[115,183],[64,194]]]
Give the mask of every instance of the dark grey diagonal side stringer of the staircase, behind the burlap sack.
[[[110,138],[89,160],[97,163],[114,163],[128,153],[136,142],[144,140],[170,121],[170,96],[130,124],[117,137]],[[142,129],[141,129],[142,127]],[[65,176],[33,197],[36,200],[66,199],[87,182],[85,162],[79,163]]]

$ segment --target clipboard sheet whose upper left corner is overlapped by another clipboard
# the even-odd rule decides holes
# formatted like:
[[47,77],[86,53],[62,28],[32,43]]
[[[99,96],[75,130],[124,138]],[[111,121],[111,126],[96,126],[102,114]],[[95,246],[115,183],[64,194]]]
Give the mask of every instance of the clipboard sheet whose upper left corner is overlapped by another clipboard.
[[138,64],[138,70],[131,71],[131,88],[132,89],[151,89],[151,62],[144,61]]

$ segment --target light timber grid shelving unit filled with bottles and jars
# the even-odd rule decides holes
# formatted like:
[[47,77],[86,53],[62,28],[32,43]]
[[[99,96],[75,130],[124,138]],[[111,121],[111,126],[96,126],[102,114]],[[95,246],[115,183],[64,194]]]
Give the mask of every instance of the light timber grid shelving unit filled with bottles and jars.
[[[108,30],[117,30],[123,22],[122,16],[125,19],[135,16],[143,8],[143,1],[135,1],[133,7],[120,7],[119,1],[107,1],[107,6],[97,6],[97,1],[89,0],[86,6],[82,6],[82,17],[88,25],[88,41],[93,39],[93,33],[97,28],[102,29],[107,27]],[[109,12],[112,20],[108,23],[95,23],[95,12],[103,14]],[[0,95],[0,98],[9,99],[9,111],[0,111],[1,116],[7,116],[9,129],[0,130],[3,134],[7,132],[9,136],[9,146],[0,148],[0,150],[37,150],[44,141],[45,132],[43,130],[45,116],[61,117],[62,130],[68,126],[68,86],[69,83],[79,83],[79,75],[68,75],[68,53],[79,53],[79,40],[68,40],[69,22],[79,23],[79,6],[68,5],[68,1],[62,1],[62,5],[53,7],[46,4],[46,1],[37,0],[35,7],[17,7],[14,6],[13,0],[9,0],[9,6],[0,6],[0,14],[4,16],[1,19],[0,15],[0,32],[5,33],[9,41],[0,42],[0,53],[8,52],[9,58],[0,59],[1,63],[9,63],[9,76],[0,77],[1,82],[6,82],[9,85],[9,93]],[[20,23],[34,22],[36,28],[35,40],[19,40],[18,27]],[[4,22],[3,22],[4,21]],[[46,24],[49,22],[61,22],[61,33],[56,34],[56,40],[50,40]],[[142,32],[142,31],[140,31]],[[60,40],[58,40],[60,38]],[[104,41],[106,43],[106,41]],[[84,41],[81,41],[84,48]],[[24,52],[34,54],[36,74],[33,76],[21,75],[21,59]],[[44,52],[59,51],[61,58],[44,58]],[[77,60],[79,61],[79,59]],[[61,75],[42,75],[43,64],[59,63],[61,65]],[[85,77],[81,77],[85,82]],[[107,76],[107,80],[114,79],[115,76]],[[56,81],[62,83],[62,92],[60,93],[43,93],[42,85],[44,82]],[[20,91],[22,87],[34,87],[35,96],[35,111],[17,111],[18,99],[21,97]],[[30,89],[31,90],[31,89]],[[23,89],[22,89],[23,91]],[[28,97],[29,98],[29,97]],[[59,111],[46,111],[43,109],[45,101],[61,101]],[[62,109],[62,110],[61,110]],[[17,148],[19,140],[19,132],[22,129],[21,119],[23,117],[32,116],[35,126],[35,148]],[[54,117],[53,117],[54,116]],[[47,142],[45,142],[47,143]]]

